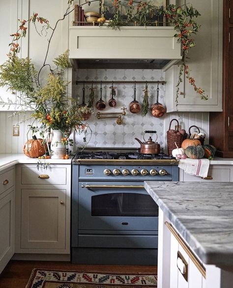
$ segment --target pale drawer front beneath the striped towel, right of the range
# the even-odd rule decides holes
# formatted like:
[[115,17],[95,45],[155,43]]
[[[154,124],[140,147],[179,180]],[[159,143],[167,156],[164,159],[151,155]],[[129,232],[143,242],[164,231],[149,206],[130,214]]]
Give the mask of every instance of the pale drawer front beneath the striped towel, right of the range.
[[231,174],[231,170],[229,168],[209,168],[208,176],[211,176],[212,179],[206,180],[206,179],[202,179],[201,177],[197,177],[197,176],[184,173],[184,181],[230,182],[230,174]]

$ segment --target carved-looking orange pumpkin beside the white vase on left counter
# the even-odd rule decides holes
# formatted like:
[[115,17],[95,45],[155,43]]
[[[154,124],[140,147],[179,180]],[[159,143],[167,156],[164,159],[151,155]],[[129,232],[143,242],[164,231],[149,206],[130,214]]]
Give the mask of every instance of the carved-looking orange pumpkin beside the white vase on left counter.
[[47,145],[42,144],[42,142],[43,139],[37,139],[36,136],[32,136],[32,139],[24,144],[24,154],[30,158],[43,156],[47,150]]

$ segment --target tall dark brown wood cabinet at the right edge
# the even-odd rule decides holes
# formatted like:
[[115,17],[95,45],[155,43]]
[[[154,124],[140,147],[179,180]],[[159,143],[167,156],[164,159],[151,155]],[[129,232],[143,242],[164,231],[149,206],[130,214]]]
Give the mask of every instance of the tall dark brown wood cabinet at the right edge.
[[223,1],[223,112],[209,113],[209,143],[233,158],[233,0]]

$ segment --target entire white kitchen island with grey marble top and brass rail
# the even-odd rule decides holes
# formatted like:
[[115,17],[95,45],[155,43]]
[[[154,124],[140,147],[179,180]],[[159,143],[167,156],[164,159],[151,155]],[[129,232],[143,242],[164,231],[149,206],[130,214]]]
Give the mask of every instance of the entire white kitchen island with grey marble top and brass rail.
[[233,184],[147,181],[145,188],[159,206],[158,288],[233,287]]

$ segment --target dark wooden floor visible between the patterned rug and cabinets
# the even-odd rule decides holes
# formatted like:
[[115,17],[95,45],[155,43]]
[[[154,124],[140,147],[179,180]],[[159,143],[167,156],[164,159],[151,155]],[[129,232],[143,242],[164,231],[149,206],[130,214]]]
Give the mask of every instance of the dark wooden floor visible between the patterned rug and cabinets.
[[157,273],[157,266],[83,265],[54,261],[11,260],[0,275],[0,288],[25,288],[33,268],[113,273]]

